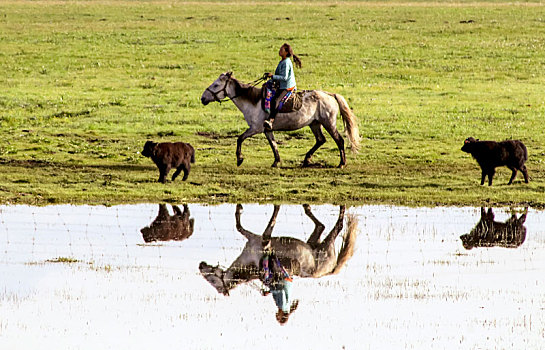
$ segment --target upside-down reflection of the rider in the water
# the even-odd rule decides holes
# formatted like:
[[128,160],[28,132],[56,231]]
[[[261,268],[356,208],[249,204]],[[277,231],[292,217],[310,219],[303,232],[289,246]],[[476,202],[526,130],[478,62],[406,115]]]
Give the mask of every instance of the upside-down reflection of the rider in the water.
[[278,307],[276,320],[280,324],[288,322],[292,312],[297,309],[298,300],[290,305],[291,288],[293,279],[280,263],[278,257],[271,250],[270,241],[264,242],[263,257],[261,258],[261,270],[263,273],[263,284],[269,290],[264,290],[263,295],[272,294],[274,302]]

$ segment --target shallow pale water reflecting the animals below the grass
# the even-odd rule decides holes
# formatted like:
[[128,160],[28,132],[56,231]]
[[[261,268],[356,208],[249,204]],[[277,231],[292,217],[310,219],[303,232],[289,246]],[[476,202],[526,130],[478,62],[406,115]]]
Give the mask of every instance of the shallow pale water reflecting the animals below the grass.
[[[542,348],[545,212],[517,209],[2,206],[0,348]],[[294,277],[284,325],[258,280],[200,270],[225,282],[273,216],[346,253]]]

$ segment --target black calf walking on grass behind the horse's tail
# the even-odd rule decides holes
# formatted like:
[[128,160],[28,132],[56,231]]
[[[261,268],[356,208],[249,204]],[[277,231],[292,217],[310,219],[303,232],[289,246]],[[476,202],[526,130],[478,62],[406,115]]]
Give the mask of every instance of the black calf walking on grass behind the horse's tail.
[[492,178],[499,166],[507,166],[513,172],[508,185],[513,183],[517,170],[522,171],[524,182],[528,183],[528,171],[524,162],[528,160],[526,146],[519,140],[479,141],[468,137],[464,141],[462,151],[470,153],[477,160],[482,170],[481,185],[488,175],[488,186],[492,185]]

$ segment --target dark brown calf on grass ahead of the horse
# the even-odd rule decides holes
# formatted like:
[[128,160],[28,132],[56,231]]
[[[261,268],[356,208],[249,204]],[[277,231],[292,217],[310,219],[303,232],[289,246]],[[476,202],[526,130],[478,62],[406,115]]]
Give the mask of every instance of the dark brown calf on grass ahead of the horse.
[[142,155],[150,157],[159,168],[159,182],[165,183],[170,169],[175,168],[172,174],[172,181],[176,179],[183,170],[182,181],[187,180],[191,163],[195,163],[195,150],[189,143],[184,142],[162,142],[148,141],[144,145]]

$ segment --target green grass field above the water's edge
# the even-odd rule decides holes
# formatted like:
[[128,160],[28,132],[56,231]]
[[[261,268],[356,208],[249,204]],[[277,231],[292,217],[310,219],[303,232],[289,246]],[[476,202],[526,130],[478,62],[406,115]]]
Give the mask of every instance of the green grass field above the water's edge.
[[[224,71],[252,81],[289,42],[300,89],[346,97],[362,150],[337,169],[299,167],[307,130],[243,145],[232,103],[202,106]],[[0,202],[332,202],[545,206],[545,6],[499,2],[0,4]],[[339,127],[342,123],[339,119]],[[460,151],[468,136],[520,139],[530,184],[492,187]],[[162,185],[146,140],[190,142],[189,180]]]

